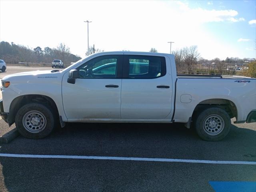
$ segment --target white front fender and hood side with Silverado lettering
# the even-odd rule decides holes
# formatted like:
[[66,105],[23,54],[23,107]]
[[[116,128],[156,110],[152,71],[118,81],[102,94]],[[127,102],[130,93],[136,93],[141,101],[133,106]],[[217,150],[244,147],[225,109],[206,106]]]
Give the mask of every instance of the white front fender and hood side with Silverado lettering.
[[22,72],[5,76],[12,78],[8,88],[2,88],[4,112],[9,112],[11,102],[22,95],[41,94],[54,100],[58,107],[59,114],[66,119],[61,92],[61,73],[51,73],[52,70]]

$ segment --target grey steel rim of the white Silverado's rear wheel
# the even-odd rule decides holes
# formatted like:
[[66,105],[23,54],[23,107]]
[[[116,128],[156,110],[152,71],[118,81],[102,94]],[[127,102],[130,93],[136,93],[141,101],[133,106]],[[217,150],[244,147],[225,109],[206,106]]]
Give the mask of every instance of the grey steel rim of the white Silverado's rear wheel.
[[203,128],[204,132],[210,136],[218,135],[223,131],[225,126],[224,120],[217,114],[209,115],[204,119]]

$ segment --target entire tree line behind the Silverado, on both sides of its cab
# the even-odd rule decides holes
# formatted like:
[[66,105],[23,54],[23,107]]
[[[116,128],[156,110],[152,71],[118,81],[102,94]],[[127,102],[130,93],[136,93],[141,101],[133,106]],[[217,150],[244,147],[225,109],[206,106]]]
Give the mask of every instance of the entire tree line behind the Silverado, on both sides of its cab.
[[[89,50],[86,52],[86,56],[103,52],[104,50],[95,49],[90,46]],[[122,50],[128,51],[128,50]],[[155,48],[151,48],[149,52],[158,51]],[[181,49],[176,49],[172,51],[175,56],[176,68],[178,72],[203,72],[203,64],[207,64],[214,73],[225,74],[227,73],[227,63],[237,64],[249,61],[248,70],[242,72],[243,75],[256,77],[256,62],[255,58],[226,58],[226,60],[220,60],[219,58],[214,58],[212,60],[204,59],[200,57],[197,46],[184,47]],[[36,48],[29,48],[23,45],[17,45],[12,42],[0,42],[0,59],[3,59],[8,64],[18,64],[18,62],[34,62],[34,63],[51,63],[54,59],[60,59],[65,65],[69,65],[71,62],[76,62],[81,59],[80,56],[72,54],[70,48],[63,43],[60,43],[56,48],[45,47],[42,49],[40,46]],[[205,70],[205,69],[204,69]],[[234,70],[230,70],[228,73],[234,73]]]

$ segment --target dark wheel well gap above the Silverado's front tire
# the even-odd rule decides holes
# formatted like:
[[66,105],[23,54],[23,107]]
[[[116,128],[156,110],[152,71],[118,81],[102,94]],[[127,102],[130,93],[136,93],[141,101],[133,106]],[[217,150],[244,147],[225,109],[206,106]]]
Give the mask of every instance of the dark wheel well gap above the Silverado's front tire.
[[10,104],[9,117],[8,117],[9,118],[9,120],[8,120],[9,126],[11,126],[14,123],[15,116],[16,116],[18,110],[22,106],[24,106],[25,104],[27,104],[29,102],[44,104],[44,105],[52,108],[52,110],[54,111],[54,114],[59,116],[57,105],[52,98],[45,96],[45,95],[40,95],[40,94],[22,95],[22,96],[16,97],[14,100],[12,100],[12,102]]

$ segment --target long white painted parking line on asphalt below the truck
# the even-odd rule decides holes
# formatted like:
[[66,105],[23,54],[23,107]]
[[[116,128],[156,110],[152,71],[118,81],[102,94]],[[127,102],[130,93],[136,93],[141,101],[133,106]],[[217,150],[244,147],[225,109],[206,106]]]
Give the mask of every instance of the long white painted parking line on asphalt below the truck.
[[31,154],[4,154],[4,153],[0,153],[0,157],[56,158],[56,159],[97,159],[97,160],[127,160],[127,161],[156,161],[156,162],[256,165],[256,162],[254,162],[254,161],[213,161],[213,160],[192,160],[192,159],[104,157],[104,156],[76,156],[76,155],[31,155]]

